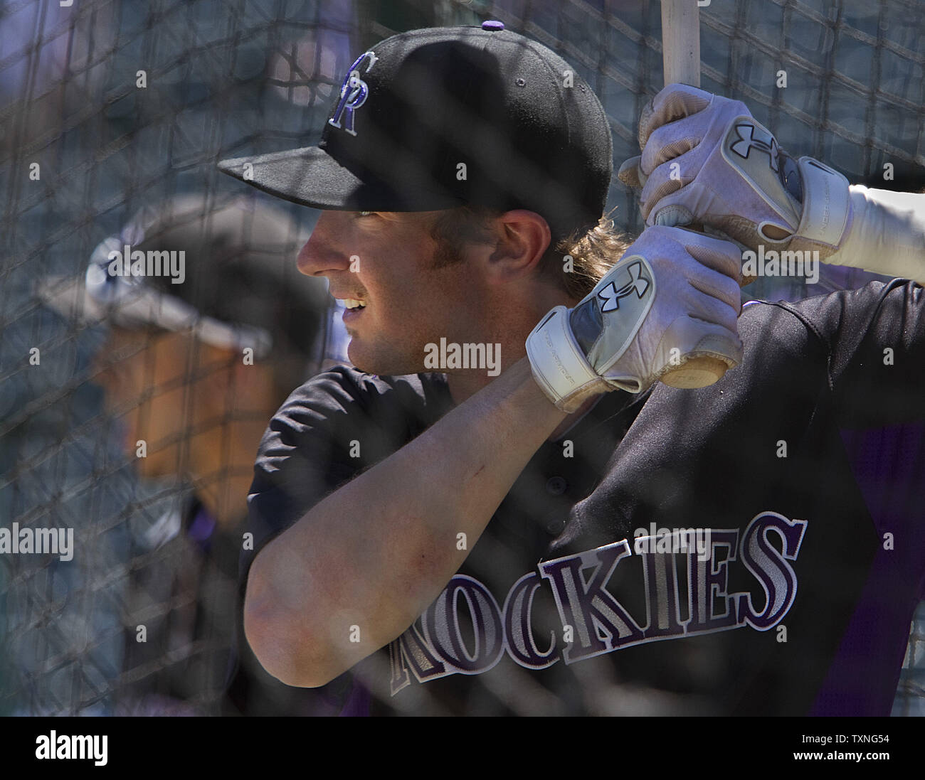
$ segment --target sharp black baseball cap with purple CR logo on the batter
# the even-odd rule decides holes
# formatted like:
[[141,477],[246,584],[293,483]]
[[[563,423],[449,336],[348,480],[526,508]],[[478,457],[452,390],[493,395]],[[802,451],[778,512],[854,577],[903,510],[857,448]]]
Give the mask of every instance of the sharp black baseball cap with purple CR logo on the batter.
[[317,146],[219,168],[319,209],[475,204],[540,213],[554,236],[596,225],[613,167],[603,107],[560,56],[503,28],[377,43],[352,64]]

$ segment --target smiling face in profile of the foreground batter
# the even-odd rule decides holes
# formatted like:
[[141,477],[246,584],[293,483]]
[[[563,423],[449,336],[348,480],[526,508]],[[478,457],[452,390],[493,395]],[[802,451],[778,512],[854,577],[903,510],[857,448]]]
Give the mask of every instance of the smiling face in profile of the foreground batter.
[[426,344],[481,340],[470,331],[484,300],[471,266],[434,267],[437,215],[323,212],[299,253],[302,274],[327,277],[349,306],[364,304],[343,318],[348,357],[362,371],[422,372]]

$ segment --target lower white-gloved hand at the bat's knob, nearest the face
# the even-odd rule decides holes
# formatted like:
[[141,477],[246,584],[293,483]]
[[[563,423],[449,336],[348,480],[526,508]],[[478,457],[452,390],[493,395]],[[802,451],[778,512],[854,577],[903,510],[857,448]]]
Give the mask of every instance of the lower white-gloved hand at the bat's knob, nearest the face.
[[742,360],[741,252],[680,227],[649,227],[574,309],[527,337],[536,383],[563,411],[621,388],[639,393],[686,360]]

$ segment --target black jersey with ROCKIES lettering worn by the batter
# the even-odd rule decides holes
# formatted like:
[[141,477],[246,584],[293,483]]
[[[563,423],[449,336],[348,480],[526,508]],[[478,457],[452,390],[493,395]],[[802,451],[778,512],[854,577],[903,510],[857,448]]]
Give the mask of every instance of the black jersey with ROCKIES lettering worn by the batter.
[[[745,358],[717,384],[601,396],[542,445],[437,601],[335,681],[344,701],[889,713],[925,597],[925,294],[755,301],[739,332]],[[439,374],[339,367],[300,387],[260,446],[242,576],[451,407]]]

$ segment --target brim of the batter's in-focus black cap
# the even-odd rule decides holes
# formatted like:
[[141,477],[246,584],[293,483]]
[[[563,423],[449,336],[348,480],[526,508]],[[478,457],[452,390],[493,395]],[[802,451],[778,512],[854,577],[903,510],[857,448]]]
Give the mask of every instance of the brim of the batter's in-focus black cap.
[[363,180],[317,146],[222,160],[218,170],[277,198],[315,209],[438,211],[462,202],[420,188],[399,192],[385,183]]

